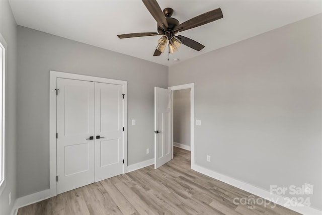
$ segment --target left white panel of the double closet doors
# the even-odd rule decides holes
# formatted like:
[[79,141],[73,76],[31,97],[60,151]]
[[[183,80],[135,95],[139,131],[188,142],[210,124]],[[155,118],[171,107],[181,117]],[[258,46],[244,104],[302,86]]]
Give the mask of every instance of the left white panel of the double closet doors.
[[57,79],[57,89],[59,194],[94,182],[94,83]]

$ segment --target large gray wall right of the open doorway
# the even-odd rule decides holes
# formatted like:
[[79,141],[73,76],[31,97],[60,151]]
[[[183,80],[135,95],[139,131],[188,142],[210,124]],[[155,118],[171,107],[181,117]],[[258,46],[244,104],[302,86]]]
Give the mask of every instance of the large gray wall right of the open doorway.
[[169,68],[169,86],[195,83],[196,165],[266,190],[313,184],[322,209],[321,30],[319,14]]

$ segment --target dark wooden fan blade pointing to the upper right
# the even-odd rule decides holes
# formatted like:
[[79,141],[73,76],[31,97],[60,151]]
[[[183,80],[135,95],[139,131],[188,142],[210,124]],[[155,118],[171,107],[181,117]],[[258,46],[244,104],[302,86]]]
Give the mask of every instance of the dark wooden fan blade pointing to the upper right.
[[194,17],[184,23],[181,23],[176,27],[176,29],[173,30],[175,31],[185,31],[191,28],[195,28],[213,21],[216,21],[218,19],[223,18],[222,12],[220,8],[217,8],[215,10],[209,11],[207,13],[201,14],[197,17]]

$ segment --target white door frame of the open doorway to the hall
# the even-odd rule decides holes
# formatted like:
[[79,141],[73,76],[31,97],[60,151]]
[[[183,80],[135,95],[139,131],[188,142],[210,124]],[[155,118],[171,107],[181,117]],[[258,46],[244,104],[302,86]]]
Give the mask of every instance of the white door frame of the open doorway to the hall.
[[171,142],[172,142],[172,159],[173,159],[173,91],[176,90],[184,90],[184,89],[190,89],[190,147],[191,147],[191,169],[193,169],[195,165],[194,160],[194,138],[195,138],[195,127],[194,127],[194,121],[195,121],[195,83],[185,84],[185,85],[177,85],[168,87],[169,90],[172,90],[171,94],[171,115],[172,115],[172,133],[171,133]]

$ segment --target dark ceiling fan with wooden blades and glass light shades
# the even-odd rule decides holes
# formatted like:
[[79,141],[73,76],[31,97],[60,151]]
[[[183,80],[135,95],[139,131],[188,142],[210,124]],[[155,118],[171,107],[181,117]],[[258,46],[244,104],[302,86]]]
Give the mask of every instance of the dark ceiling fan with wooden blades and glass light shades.
[[150,12],[152,17],[157,22],[157,32],[143,32],[143,33],[131,33],[131,34],[119,34],[117,35],[120,39],[131,38],[131,37],[145,37],[145,36],[155,36],[162,35],[158,40],[158,44],[154,51],[153,56],[159,56],[162,54],[169,41],[169,53],[173,53],[178,50],[181,44],[184,44],[190,48],[200,51],[205,46],[182,35],[175,36],[178,32],[182,32],[191,28],[195,28],[218,19],[223,18],[221,9],[215,9],[207,13],[196,16],[184,23],[179,23],[175,18],[172,18],[173,9],[166,8],[163,11],[157,4],[156,0],[142,0],[143,4]]

